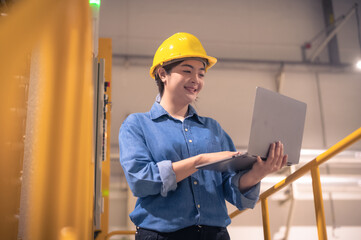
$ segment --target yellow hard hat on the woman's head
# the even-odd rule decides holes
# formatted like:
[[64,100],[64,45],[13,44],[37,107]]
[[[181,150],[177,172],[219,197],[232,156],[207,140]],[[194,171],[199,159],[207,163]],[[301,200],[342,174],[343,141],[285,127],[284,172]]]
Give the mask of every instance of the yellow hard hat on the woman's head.
[[203,58],[208,61],[206,71],[216,64],[217,59],[207,55],[201,42],[194,35],[189,33],[176,33],[166,39],[154,54],[153,66],[149,74],[155,78],[154,71],[158,66],[175,59],[182,58]]

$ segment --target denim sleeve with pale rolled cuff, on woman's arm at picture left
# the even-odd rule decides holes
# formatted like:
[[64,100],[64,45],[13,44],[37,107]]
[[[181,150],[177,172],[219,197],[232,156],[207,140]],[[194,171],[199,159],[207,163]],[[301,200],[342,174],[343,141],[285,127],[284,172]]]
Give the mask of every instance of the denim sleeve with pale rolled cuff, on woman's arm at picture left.
[[136,116],[130,115],[119,130],[119,158],[134,196],[166,196],[168,191],[176,189],[171,161],[153,160]]

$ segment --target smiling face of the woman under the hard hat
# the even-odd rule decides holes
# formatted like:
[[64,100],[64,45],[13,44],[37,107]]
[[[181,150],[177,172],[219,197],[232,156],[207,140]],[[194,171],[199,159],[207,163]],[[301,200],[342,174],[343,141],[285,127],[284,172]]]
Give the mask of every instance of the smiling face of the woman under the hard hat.
[[179,104],[190,104],[202,90],[205,76],[204,63],[186,60],[175,66],[170,74],[160,75],[164,82],[163,97],[170,97]]

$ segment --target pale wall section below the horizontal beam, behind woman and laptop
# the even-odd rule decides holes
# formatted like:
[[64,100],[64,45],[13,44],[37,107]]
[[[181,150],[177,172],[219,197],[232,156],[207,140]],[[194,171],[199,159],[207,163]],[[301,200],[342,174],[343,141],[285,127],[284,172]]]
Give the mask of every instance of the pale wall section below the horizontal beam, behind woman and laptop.
[[[276,75],[276,70],[263,70],[260,66],[255,70],[214,67],[207,73],[205,86],[194,105],[199,114],[219,121],[236,146],[246,148],[255,88],[262,86],[276,91]],[[287,70],[286,65],[283,82],[283,94],[307,103],[303,148],[329,148],[361,126],[360,73],[314,73],[292,67]],[[117,64],[116,59],[112,91],[112,133],[117,133],[128,114],[149,111],[157,95],[156,84],[148,76],[148,66],[125,67]],[[112,134],[111,142],[117,144],[117,134]],[[361,143],[352,148],[361,149]]]

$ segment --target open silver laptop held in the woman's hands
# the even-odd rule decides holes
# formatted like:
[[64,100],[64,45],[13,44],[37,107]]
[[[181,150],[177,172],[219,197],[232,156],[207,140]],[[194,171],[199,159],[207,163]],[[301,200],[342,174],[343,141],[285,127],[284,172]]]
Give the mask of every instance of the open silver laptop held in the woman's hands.
[[307,105],[296,99],[257,87],[248,151],[232,158],[196,166],[197,169],[238,171],[249,169],[257,156],[267,159],[270,144],[281,141],[287,164],[300,159]]

